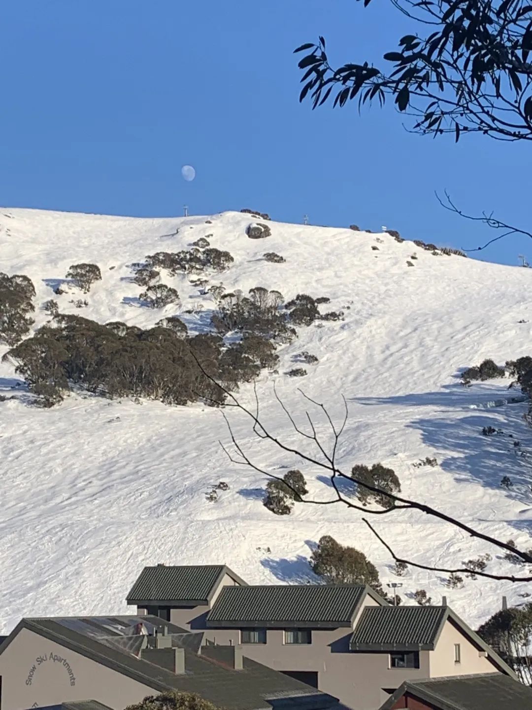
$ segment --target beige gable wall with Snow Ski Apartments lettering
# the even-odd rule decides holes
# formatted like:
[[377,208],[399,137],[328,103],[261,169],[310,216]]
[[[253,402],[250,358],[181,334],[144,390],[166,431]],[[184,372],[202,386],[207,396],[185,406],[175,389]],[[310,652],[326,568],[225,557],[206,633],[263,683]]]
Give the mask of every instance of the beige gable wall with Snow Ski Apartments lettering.
[[[59,658],[67,662],[70,672]],[[87,699],[123,710],[155,693],[154,689],[26,628],[0,655],[0,676],[1,710],[26,710]]]

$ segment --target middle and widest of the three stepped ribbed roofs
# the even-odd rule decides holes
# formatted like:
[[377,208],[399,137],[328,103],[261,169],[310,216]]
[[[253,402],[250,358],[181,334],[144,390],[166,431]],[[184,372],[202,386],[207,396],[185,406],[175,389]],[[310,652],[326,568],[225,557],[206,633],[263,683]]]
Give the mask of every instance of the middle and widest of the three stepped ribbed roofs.
[[207,616],[207,626],[352,628],[366,594],[386,603],[361,584],[225,586]]

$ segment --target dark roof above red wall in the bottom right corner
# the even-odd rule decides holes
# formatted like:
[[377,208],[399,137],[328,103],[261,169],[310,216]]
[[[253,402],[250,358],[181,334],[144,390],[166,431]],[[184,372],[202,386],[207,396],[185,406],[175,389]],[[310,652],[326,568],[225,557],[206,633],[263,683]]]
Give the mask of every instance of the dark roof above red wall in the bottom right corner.
[[380,710],[390,710],[404,694],[438,710],[531,710],[532,689],[502,673],[407,680]]

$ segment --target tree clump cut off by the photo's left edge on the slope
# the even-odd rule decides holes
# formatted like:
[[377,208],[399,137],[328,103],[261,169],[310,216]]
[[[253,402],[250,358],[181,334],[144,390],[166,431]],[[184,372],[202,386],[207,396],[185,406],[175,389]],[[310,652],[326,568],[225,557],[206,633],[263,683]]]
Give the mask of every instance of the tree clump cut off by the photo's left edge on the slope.
[[28,276],[0,272],[0,342],[18,343],[33,325],[35,288]]

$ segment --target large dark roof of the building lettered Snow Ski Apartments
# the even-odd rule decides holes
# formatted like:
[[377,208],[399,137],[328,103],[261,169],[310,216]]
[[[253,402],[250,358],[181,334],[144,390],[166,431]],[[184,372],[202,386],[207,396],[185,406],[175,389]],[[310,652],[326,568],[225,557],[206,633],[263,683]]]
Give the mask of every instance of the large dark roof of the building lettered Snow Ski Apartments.
[[[134,633],[142,622],[148,637]],[[197,693],[227,710],[322,710],[336,698],[244,657],[235,670],[200,650],[203,633],[187,632],[156,616],[65,617],[23,619],[0,646],[0,654],[21,628],[27,628],[157,692]],[[141,649],[154,632],[171,637],[173,648],[183,648],[184,673],[175,674],[142,658]],[[223,647],[217,647],[223,648]],[[234,648],[234,647],[233,647]],[[148,694],[148,693],[147,693]],[[76,710],[102,710],[96,708]]]

